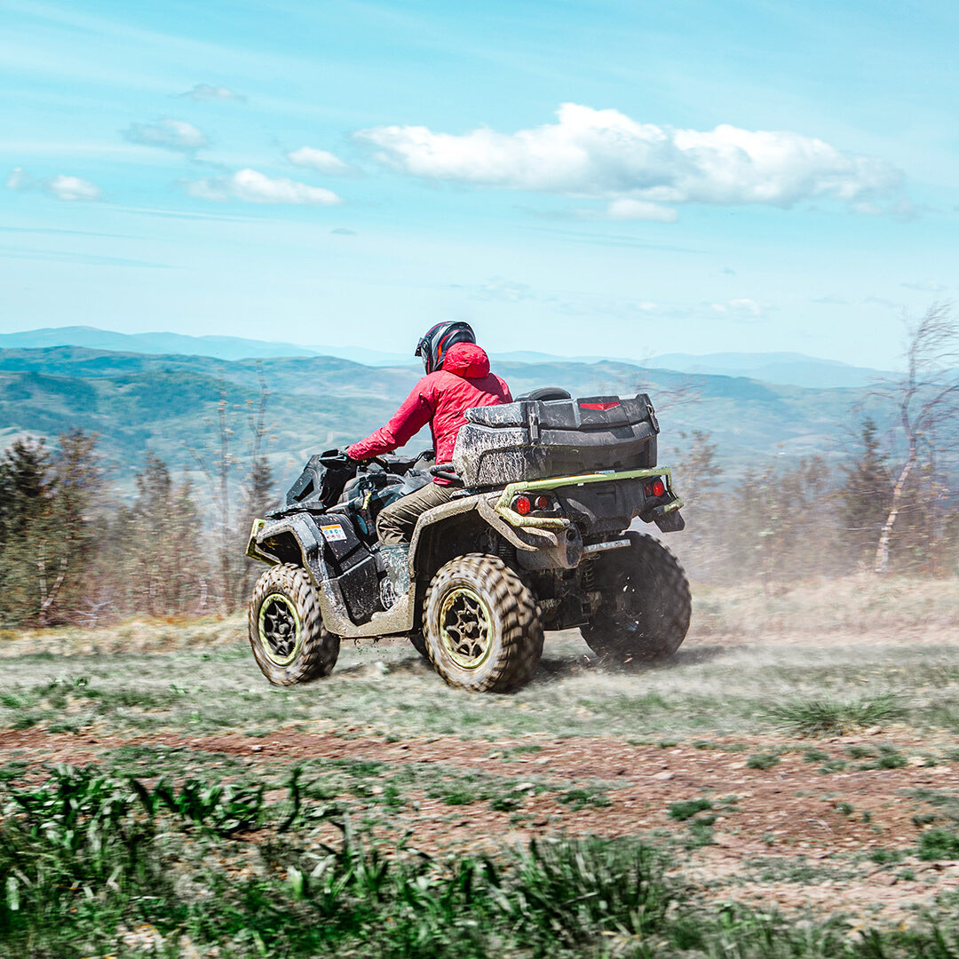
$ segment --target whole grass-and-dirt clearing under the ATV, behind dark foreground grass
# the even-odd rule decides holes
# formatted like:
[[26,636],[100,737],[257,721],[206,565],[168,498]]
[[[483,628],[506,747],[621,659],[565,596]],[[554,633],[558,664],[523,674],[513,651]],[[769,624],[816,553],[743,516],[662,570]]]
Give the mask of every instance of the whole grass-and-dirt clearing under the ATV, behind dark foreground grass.
[[[668,667],[616,673],[563,635],[533,684],[498,697],[448,690],[406,643],[344,645],[329,679],[272,690],[234,620],[192,643],[138,625],[136,656],[116,631],[11,637],[0,775],[97,763],[266,781],[282,803],[303,766],[322,802],[425,853],[638,836],[672,854],[690,897],[900,924],[959,890],[959,861],[920,857],[925,831],[959,826],[951,615],[757,636],[728,628],[727,605],[703,618],[727,628],[700,625]],[[901,715],[842,736],[770,718],[790,698],[889,690]]]

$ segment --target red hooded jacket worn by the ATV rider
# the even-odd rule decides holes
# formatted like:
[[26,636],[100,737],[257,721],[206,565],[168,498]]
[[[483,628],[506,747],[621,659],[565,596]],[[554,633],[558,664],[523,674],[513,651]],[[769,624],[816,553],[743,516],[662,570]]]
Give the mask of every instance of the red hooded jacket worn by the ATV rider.
[[512,402],[509,387],[490,373],[486,351],[476,343],[455,343],[443,358],[443,368],[424,376],[386,426],[348,447],[346,455],[368,459],[389,453],[429,423],[436,462],[448,463],[467,409]]

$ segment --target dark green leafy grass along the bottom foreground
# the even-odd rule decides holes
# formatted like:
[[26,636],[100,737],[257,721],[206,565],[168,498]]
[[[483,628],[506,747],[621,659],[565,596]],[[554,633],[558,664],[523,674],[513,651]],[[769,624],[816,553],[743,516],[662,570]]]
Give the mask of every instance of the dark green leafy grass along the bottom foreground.
[[[405,852],[313,807],[299,785],[294,774],[274,807],[217,783],[165,790],[95,768],[61,767],[45,784],[6,787],[0,950],[37,959],[145,954],[129,945],[129,930],[147,928],[151,954],[171,959],[184,944],[234,959],[959,955],[947,913],[939,926],[851,937],[840,919],[796,924],[690,900],[675,862],[631,838],[456,859]],[[320,839],[323,824],[339,841]],[[711,835],[703,821],[689,844]],[[764,880],[841,875],[802,859],[750,868]]]

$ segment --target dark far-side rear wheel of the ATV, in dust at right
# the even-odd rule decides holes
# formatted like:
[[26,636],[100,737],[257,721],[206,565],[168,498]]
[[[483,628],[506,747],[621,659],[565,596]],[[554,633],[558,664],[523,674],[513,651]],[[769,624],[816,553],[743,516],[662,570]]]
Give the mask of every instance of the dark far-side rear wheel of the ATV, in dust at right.
[[605,659],[622,664],[672,656],[690,628],[690,582],[679,560],[652,536],[626,534],[632,545],[596,560],[603,598],[580,632]]

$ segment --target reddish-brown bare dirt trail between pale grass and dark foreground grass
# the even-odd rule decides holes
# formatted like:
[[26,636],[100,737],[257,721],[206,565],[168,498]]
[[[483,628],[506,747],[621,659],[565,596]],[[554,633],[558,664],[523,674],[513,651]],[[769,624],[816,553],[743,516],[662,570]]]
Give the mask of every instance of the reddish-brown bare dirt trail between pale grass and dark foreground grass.
[[[870,740],[871,737],[843,737],[841,745],[838,740],[833,743],[837,750],[842,750],[869,745]],[[538,747],[535,753],[508,755],[510,749],[528,747],[531,741]],[[728,751],[724,745],[729,747]],[[738,737],[735,742],[717,741],[709,749],[697,749],[689,745],[637,746],[602,738],[503,739],[490,743],[458,737],[423,737],[387,742],[379,737],[346,738],[283,730],[266,738],[239,734],[84,737],[13,730],[0,733],[0,760],[9,761],[29,751],[34,764],[85,763],[121,746],[162,746],[242,756],[256,764],[279,761],[292,765],[311,759],[379,760],[397,765],[441,763],[480,770],[504,780],[549,777],[577,783],[598,782],[612,801],[609,807],[573,812],[557,807],[548,793],[530,797],[526,807],[542,813],[556,827],[602,835],[663,828],[683,830],[682,824],[669,817],[670,803],[703,795],[735,796],[736,801],[730,803],[735,808],[722,812],[714,828],[717,836],[735,839],[739,854],[768,854],[769,837],[774,837],[780,847],[810,855],[835,851],[837,846],[905,846],[914,843],[921,831],[913,816],[930,809],[928,803],[907,793],[917,789],[959,793],[959,763],[923,766],[918,755],[910,757],[911,747],[918,752],[923,744],[918,739],[910,742],[904,736],[897,737],[897,746],[909,757],[910,764],[899,769],[849,769],[824,775],[817,771],[821,762],[804,760],[803,751],[810,747],[807,741],[792,743],[798,750],[784,753],[771,768],[747,765],[751,754],[789,745],[782,739],[760,737]],[[830,743],[825,745],[829,748]],[[840,804],[853,807],[853,812],[844,811]],[[423,807],[420,811],[425,815],[428,810]],[[443,812],[448,814],[450,808],[445,807]],[[493,826],[489,815],[495,818],[497,814],[484,813],[484,831]]]

